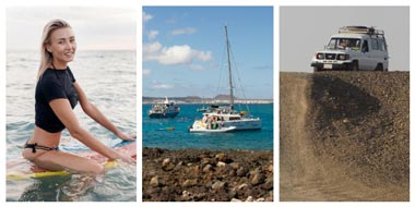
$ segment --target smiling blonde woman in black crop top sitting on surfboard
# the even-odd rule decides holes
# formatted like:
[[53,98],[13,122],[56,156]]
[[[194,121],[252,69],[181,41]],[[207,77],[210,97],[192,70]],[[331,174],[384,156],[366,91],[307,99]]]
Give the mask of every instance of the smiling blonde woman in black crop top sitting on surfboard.
[[126,141],[134,139],[117,129],[92,102],[76,82],[68,63],[76,51],[75,35],[62,20],[52,20],[44,28],[42,59],[36,85],[36,125],[26,142],[23,157],[36,166],[49,170],[69,170],[79,173],[103,173],[98,162],[58,150],[61,133],[68,129],[71,136],[92,150],[111,160],[120,159],[134,163],[135,160],[122,155],[96,139],[84,130],[72,109],[79,102],[83,111],[97,123]]

